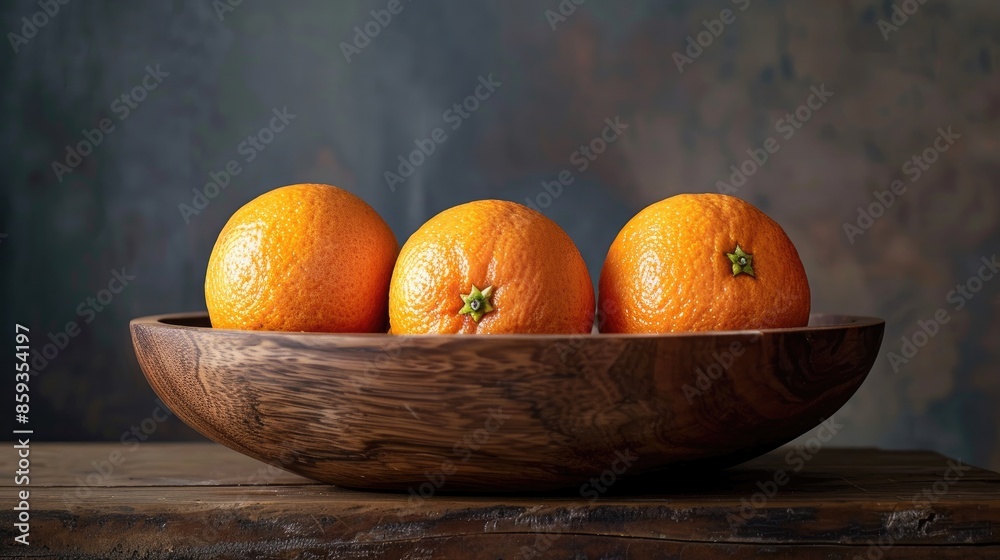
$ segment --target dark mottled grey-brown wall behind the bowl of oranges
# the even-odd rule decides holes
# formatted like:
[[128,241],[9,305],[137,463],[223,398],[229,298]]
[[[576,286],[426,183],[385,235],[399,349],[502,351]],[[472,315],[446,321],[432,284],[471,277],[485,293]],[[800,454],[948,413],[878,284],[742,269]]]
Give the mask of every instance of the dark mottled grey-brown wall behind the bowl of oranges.
[[[974,281],[981,289],[961,309],[949,301],[1000,242],[995,0],[897,2],[919,6],[905,22],[897,14],[897,29],[880,28],[889,1],[586,0],[550,23],[557,0],[403,0],[350,61],[341,43],[388,0],[245,0],[221,11],[224,1],[69,0],[35,16],[44,25],[33,33],[21,18],[40,10],[36,0],[3,5],[3,31],[24,34],[0,48],[4,324],[29,325],[36,345],[79,325],[33,379],[37,438],[118,439],[150,416],[128,320],[204,308],[216,235],[269,189],[348,188],[401,241],[448,206],[530,197],[549,203],[596,275],[636,211],[717,190],[747,149],[774,137],[779,151],[736,194],[792,237],[814,310],[888,322],[835,443],[930,448],[1000,468],[1000,280]],[[735,21],[679,71],[673,53],[727,8]],[[157,65],[168,75],[125,116],[116,99]],[[490,74],[501,85],[451,130],[444,111]],[[833,97],[791,137],[776,130],[822,84]],[[241,143],[276,108],[294,119],[246,161]],[[574,150],[616,116],[628,129],[580,171]],[[114,129],[93,153],[54,169],[102,119]],[[448,139],[390,189],[384,172],[437,126]],[[939,127],[960,138],[912,180],[904,163]],[[240,174],[185,219],[179,205],[233,159]],[[541,182],[563,169],[573,184],[546,198]],[[849,239],[844,223],[896,179],[905,193]],[[135,279],[122,293],[99,313],[79,307],[123,267]],[[893,367],[889,352],[939,309],[950,321]],[[193,437],[176,419],[151,436]]]

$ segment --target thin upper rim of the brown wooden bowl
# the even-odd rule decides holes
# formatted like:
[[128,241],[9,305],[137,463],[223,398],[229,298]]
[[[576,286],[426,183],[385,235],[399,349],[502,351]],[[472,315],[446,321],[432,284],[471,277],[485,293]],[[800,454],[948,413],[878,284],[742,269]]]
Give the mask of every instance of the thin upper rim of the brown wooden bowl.
[[[390,333],[336,333],[336,332],[311,332],[311,331],[253,331],[243,329],[217,329],[213,327],[197,327],[190,325],[178,325],[167,321],[178,319],[208,319],[207,311],[189,311],[181,313],[165,313],[160,315],[146,315],[136,317],[129,321],[129,328],[137,326],[154,327],[162,329],[177,329],[183,331],[211,332],[218,335],[260,335],[260,336],[305,336],[305,337],[327,337],[330,339],[356,338],[361,340],[452,340],[473,336],[475,334],[390,334]],[[685,331],[673,333],[565,333],[565,334],[489,334],[481,335],[489,340],[565,340],[565,339],[585,339],[585,340],[642,340],[657,338],[711,338],[719,336],[763,336],[767,334],[794,334],[811,333],[828,330],[842,330],[845,328],[868,328],[885,325],[885,319],[868,315],[847,315],[842,313],[810,313],[809,318],[814,317],[839,317],[846,319],[845,322],[836,322],[829,325],[805,326],[805,327],[784,327],[775,329],[742,329],[732,331]],[[479,338],[479,337],[477,337]]]

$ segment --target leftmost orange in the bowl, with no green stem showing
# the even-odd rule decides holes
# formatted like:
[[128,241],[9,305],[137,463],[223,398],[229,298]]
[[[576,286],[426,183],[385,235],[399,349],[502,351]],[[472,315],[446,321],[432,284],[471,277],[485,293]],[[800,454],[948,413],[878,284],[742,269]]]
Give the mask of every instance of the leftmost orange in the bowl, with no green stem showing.
[[212,326],[385,330],[399,244],[381,216],[330,185],[289,185],[236,211],[208,261]]

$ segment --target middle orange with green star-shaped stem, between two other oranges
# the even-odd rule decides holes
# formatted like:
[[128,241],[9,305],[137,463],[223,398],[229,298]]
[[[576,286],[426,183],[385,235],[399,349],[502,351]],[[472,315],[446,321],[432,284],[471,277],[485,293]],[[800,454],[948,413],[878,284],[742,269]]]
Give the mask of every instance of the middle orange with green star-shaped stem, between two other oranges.
[[389,286],[393,334],[589,333],[594,287],[576,245],[526,206],[441,212],[403,245]]

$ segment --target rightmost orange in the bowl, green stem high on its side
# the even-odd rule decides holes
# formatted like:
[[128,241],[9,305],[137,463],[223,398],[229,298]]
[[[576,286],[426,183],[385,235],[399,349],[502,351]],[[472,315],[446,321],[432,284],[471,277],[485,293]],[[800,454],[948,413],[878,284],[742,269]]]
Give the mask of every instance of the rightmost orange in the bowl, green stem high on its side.
[[801,327],[809,282],[774,220],[739,198],[682,194],[618,233],[599,282],[610,333]]

